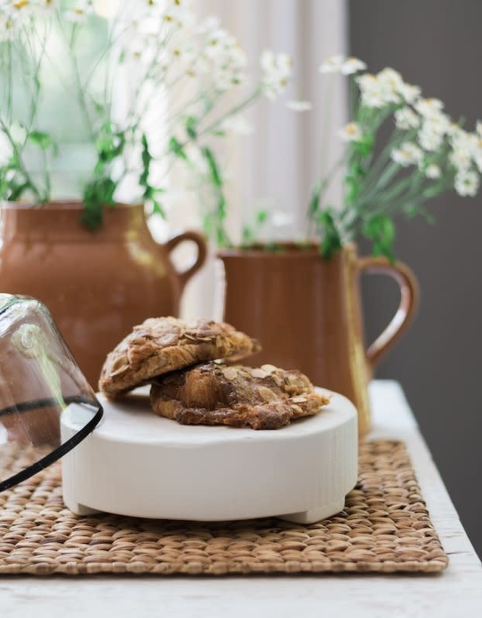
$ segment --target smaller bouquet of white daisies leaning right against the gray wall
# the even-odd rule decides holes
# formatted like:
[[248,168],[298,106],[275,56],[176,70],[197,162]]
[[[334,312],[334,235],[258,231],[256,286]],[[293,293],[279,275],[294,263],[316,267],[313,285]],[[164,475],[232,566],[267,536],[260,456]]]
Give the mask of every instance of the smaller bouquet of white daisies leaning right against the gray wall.
[[[375,255],[393,260],[397,216],[431,219],[427,200],[451,189],[470,197],[478,192],[482,124],[468,132],[462,120],[453,122],[444,112],[442,101],[423,98],[421,88],[404,82],[396,70],[372,75],[366,68],[359,59],[343,56],[320,66],[322,74],[349,78],[351,122],[339,132],[346,142],[343,155],[315,183],[307,214],[325,257],[365,237]],[[331,205],[325,201],[326,189],[340,168],[344,203]]]

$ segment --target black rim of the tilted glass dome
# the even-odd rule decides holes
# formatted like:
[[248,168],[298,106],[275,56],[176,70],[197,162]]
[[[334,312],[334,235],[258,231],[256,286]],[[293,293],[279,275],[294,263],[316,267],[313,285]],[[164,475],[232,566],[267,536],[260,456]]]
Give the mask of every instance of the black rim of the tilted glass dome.
[[[65,397],[64,402],[66,404],[91,405],[94,408],[97,408],[97,411],[91,418],[91,420],[89,420],[89,422],[84,425],[83,428],[81,428],[74,436],[72,436],[72,438],[69,438],[63,444],[60,444],[60,446],[49,452],[48,455],[45,455],[45,457],[42,457],[34,464],[28,466],[28,468],[25,468],[24,470],[21,470],[20,472],[9,476],[9,478],[6,478],[4,481],[1,481],[0,492],[5,491],[10,487],[13,487],[14,485],[17,485],[17,483],[20,483],[21,481],[25,481],[27,478],[30,478],[30,476],[33,476],[38,472],[41,472],[41,470],[48,468],[49,465],[56,462],[58,459],[60,459],[60,457],[63,457],[65,453],[72,451],[73,447],[77,446],[79,442],[81,442],[84,438],[86,438],[86,436],[88,436],[89,433],[91,433],[91,431],[93,431],[95,426],[101,420],[102,415],[104,414],[104,408],[102,408],[102,405],[99,404],[97,399],[89,399],[88,397],[81,396],[70,396]],[[3,408],[2,410],[0,410],[0,418],[9,414],[13,414],[15,412],[31,412],[31,410],[38,410],[39,408],[46,408],[51,405],[58,404],[59,400],[57,399],[37,399],[34,401],[23,402],[21,404],[12,405],[8,408]]]

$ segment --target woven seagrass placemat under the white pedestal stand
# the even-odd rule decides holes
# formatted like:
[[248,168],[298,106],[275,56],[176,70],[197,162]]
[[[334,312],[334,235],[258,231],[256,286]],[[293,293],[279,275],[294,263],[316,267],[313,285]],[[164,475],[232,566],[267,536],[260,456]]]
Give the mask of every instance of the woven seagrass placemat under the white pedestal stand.
[[58,464],[0,494],[0,575],[433,573],[447,561],[396,441],[361,444],[345,509],[311,525],[78,517]]

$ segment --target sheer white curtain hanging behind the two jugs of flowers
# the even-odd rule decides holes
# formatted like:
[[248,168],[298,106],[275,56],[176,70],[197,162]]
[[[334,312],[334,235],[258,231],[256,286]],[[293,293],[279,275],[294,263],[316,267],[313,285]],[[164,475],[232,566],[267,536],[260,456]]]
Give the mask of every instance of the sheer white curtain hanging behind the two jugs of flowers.
[[[204,15],[217,15],[222,26],[238,38],[251,62],[263,49],[285,51],[293,57],[294,80],[276,103],[259,101],[246,114],[254,133],[233,138],[225,145],[228,162],[229,229],[239,240],[241,227],[260,207],[293,219],[286,234],[305,230],[310,187],[322,168],[339,156],[336,130],[346,122],[346,93],[339,76],[320,75],[327,57],[347,49],[345,0],[198,0]],[[254,67],[256,68],[256,67]],[[330,92],[328,92],[330,90]],[[312,111],[294,112],[286,101],[308,99]],[[327,109],[328,99],[332,100]],[[326,135],[326,115],[333,130]],[[324,134],[322,141],[322,133]],[[328,199],[341,203],[341,184],[334,182]],[[178,227],[199,224],[195,205],[180,205]],[[175,219],[175,218],[174,218]],[[214,255],[214,250],[212,252]],[[185,317],[220,318],[222,289],[218,266],[209,264],[188,284],[183,298]]]

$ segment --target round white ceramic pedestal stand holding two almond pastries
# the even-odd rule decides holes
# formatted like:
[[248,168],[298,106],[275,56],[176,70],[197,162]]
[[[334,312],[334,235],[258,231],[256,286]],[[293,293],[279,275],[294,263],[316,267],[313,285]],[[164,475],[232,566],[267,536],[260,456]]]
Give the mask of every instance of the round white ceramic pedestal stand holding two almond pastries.
[[[276,515],[312,523],[343,509],[357,481],[357,414],[335,394],[280,430],[179,425],[154,415],[148,391],[99,395],[104,418],[62,458],[65,504],[81,515],[222,521]],[[81,410],[62,415],[62,440]]]

